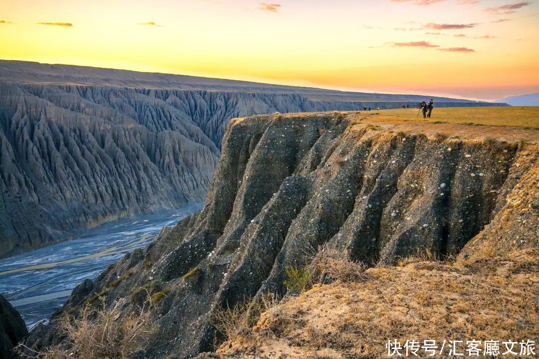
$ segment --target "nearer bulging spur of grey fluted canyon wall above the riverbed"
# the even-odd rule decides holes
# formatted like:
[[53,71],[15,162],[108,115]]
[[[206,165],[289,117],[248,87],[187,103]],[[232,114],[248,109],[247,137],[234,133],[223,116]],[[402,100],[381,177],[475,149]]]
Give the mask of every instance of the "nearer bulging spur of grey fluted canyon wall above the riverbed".
[[136,91],[0,85],[0,256],[202,202],[219,150]]

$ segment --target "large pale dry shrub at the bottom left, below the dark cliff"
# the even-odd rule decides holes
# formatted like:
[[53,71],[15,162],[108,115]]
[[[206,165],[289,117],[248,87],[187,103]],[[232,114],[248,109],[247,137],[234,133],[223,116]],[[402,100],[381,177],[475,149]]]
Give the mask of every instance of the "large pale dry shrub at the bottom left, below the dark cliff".
[[[66,315],[61,322],[61,330],[66,335],[64,341],[44,351],[35,351],[21,346],[23,357],[42,359],[123,359],[143,348],[157,326],[151,322],[150,311],[121,315],[122,301],[107,310],[105,302],[101,309],[84,307],[78,318]],[[25,354],[31,352],[32,355]]]

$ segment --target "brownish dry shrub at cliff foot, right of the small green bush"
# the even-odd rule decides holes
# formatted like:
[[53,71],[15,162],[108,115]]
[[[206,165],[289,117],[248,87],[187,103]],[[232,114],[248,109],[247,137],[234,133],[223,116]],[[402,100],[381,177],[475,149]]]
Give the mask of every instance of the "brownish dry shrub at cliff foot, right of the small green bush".
[[328,244],[319,248],[310,267],[319,273],[326,273],[331,279],[344,282],[364,280],[367,269],[364,263],[352,261],[346,249]]

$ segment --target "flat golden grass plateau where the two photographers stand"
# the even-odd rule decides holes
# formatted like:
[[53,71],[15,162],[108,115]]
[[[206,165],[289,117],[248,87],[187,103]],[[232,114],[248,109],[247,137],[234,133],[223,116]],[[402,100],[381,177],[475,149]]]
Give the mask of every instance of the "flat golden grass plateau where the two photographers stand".
[[[417,109],[381,110],[380,117],[403,121],[452,123],[488,126],[517,126],[539,129],[539,107],[440,107],[434,108],[431,118],[417,115]],[[369,116],[368,112],[362,114]]]

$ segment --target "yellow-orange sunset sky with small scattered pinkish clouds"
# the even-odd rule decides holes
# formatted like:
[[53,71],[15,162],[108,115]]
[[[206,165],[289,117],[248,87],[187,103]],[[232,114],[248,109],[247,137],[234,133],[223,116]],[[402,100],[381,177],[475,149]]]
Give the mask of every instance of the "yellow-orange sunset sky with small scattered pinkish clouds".
[[496,100],[539,92],[539,0],[2,0],[0,59]]

